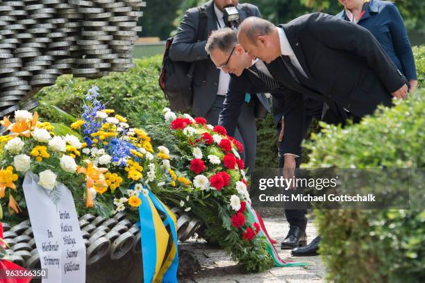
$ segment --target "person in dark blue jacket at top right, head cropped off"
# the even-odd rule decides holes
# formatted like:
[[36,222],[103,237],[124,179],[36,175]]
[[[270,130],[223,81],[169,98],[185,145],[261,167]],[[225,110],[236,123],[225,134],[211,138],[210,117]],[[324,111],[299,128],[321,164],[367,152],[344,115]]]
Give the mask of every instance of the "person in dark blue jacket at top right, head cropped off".
[[344,10],[336,17],[367,28],[410,82],[417,87],[412,46],[400,12],[394,3],[381,0],[338,0]]

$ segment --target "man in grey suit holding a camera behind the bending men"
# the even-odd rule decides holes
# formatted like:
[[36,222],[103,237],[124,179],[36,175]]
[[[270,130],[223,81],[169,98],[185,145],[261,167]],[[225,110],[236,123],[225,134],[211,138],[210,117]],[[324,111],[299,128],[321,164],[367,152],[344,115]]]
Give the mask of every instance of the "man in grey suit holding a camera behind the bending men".
[[[199,26],[200,18],[205,16],[208,19],[206,26]],[[194,62],[192,112],[197,117],[205,117],[214,126],[218,124],[219,114],[224,108],[230,76],[217,69],[210,60],[205,51],[206,40],[212,31],[225,27],[236,29],[240,22],[251,16],[261,17],[258,8],[249,3],[240,4],[238,0],[214,0],[190,8],[185,12],[169,49],[169,58],[173,61]],[[197,41],[201,28],[204,30],[203,39]],[[226,67],[231,60],[232,54],[221,67]],[[264,94],[247,94],[238,119],[234,137],[244,145],[242,157],[249,172],[253,171],[256,160],[255,112],[265,112],[264,109],[269,108],[268,103]]]

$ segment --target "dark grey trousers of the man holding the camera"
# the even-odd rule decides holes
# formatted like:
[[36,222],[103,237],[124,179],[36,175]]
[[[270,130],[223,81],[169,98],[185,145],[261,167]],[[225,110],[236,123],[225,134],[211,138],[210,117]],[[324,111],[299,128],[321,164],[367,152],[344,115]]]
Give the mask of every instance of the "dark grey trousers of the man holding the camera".
[[[213,126],[218,124],[220,112],[224,108],[224,98],[225,96],[217,95],[213,106],[205,116],[208,123]],[[251,173],[255,169],[257,148],[257,128],[253,114],[253,103],[244,103],[242,105],[234,138],[241,141],[244,146],[244,152],[241,157],[244,160],[245,168],[249,168],[248,173]]]

